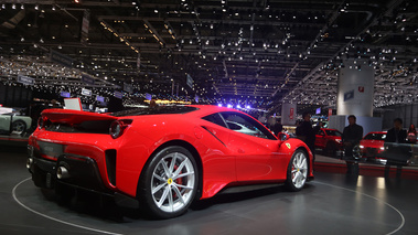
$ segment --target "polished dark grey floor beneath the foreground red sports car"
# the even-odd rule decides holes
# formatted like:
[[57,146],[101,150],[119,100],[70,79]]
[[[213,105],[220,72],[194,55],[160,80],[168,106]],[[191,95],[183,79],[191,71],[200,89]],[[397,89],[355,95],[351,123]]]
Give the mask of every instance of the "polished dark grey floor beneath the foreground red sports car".
[[418,234],[418,182],[317,172],[282,186],[222,194],[185,215],[148,221],[79,196],[62,204],[29,179],[24,148],[0,146],[0,234]]

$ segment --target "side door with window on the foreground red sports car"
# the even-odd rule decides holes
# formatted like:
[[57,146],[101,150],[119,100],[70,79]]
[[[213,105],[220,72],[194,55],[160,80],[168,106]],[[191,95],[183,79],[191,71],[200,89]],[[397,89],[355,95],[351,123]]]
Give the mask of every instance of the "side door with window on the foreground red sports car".
[[286,174],[279,140],[254,118],[235,111],[221,113],[229,128],[227,147],[235,156],[238,181],[266,181]]

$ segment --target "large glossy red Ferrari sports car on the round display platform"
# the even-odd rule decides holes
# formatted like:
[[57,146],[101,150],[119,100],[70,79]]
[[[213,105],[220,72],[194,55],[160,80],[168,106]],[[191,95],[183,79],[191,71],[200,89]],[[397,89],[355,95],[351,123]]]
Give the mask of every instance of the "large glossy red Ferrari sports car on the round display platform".
[[312,153],[253,117],[217,106],[139,108],[114,114],[42,113],[29,139],[35,185],[88,190],[138,202],[158,218],[224,189],[313,178]]

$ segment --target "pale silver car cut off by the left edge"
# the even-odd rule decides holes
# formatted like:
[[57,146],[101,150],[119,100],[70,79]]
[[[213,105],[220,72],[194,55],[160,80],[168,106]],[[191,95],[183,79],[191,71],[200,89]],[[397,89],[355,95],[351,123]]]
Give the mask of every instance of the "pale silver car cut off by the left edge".
[[18,113],[0,114],[0,132],[6,135],[22,135],[31,125],[31,117],[20,116]]

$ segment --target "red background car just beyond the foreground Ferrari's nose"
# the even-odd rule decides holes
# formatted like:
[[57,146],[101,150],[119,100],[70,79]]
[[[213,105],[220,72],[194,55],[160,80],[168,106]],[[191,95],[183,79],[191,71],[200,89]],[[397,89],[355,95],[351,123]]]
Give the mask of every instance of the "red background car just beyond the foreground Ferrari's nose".
[[328,156],[335,156],[337,150],[342,150],[342,132],[336,129],[321,128],[315,138],[315,148],[322,149]]

